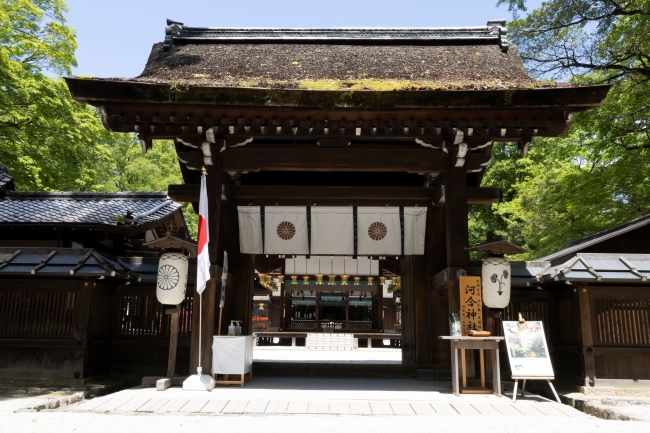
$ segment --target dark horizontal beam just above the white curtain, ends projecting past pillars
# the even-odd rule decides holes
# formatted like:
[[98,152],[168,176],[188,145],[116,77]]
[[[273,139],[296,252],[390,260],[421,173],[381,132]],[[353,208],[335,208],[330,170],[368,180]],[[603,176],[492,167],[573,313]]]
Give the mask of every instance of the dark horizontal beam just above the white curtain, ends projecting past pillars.
[[[169,185],[167,194],[175,201],[196,202],[199,185]],[[266,204],[280,202],[283,205],[304,205],[312,202],[333,205],[336,202],[359,204],[369,202],[413,202],[428,205],[435,200],[436,189],[419,186],[297,186],[297,185],[232,185],[231,196],[240,202]],[[496,203],[501,197],[499,188],[467,188],[467,204]]]

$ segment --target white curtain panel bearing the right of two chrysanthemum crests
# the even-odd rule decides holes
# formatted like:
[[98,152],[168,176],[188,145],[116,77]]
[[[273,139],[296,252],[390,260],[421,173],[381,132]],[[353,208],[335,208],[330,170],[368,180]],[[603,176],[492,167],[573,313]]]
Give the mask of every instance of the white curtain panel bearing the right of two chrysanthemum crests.
[[397,207],[357,208],[357,254],[402,254],[402,232]]

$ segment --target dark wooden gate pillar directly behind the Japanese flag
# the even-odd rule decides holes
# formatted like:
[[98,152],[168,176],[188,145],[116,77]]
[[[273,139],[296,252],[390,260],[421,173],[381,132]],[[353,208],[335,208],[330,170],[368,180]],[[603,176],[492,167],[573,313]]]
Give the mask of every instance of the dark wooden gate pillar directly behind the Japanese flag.
[[[214,164],[207,167],[207,193],[208,193],[208,232],[209,243],[208,251],[210,253],[210,263],[219,265],[219,235],[221,231],[221,188],[223,185],[223,173],[221,172],[221,160],[213,157]],[[198,306],[202,304],[202,327],[201,327],[201,366],[203,371],[208,374],[212,365],[212,336],[215,335],[215,316],[218,320],[217,310],[221,293],[219,284],[219,296],[217,296],[217,281],[209,280],[203,295],[194,294],[194,308],[192,314],[192,340],[190,347],[190,374],[196,372],[199,366],[199,314]],[[202,296],[203,299],[200,299]]]

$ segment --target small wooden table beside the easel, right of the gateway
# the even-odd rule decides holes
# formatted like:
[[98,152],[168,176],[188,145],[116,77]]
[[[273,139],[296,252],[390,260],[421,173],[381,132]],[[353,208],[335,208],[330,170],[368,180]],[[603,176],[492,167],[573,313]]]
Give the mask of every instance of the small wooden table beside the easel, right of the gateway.
[[[464,394],[496,394],[501,396],[501,374],[499,372],[499,341],[504,337],[452,337],[449,335],[439,336],[441,340],[451,342],[451,384],[454,395]],[[467,387],[467,371],[465,368],[465,349],[479,349],[481,354],[481,387]],[[483,351],[491,351],[492,355],[492,389],[485,387],[485,358]],[[463,387],[459,384],[458,351],[462,357]]]

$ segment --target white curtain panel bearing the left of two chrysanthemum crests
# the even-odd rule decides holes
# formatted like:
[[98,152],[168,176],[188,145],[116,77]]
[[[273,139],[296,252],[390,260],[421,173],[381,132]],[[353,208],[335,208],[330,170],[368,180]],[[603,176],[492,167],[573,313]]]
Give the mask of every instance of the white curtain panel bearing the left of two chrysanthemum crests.
[[264,254],[307,253],[307,209],[304,206],[267,206]]

